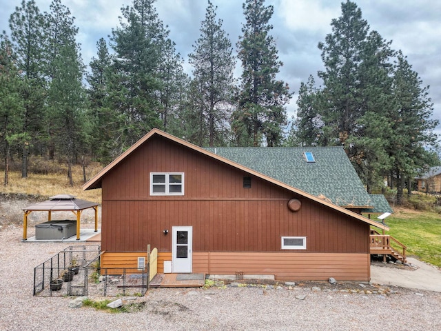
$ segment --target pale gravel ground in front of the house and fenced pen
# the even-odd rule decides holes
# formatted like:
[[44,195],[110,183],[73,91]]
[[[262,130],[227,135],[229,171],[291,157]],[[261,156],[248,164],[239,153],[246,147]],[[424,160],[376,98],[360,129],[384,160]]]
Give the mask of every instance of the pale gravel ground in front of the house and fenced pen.
[[441,330],[441,293],[358,283],[152,289],[123,298],[136,312],[70,308],[75,298],[32,296],[34,267],[66,244],[21,235],[0,229],[0,330]]

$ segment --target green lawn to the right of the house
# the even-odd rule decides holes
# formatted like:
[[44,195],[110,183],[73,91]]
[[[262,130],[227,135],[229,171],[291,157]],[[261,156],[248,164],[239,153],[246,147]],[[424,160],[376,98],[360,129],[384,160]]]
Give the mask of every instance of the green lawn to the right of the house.
[[434,212],[398,211],[384,220],[392,237],[407,246],[407,256],[441,267],[441,215]]

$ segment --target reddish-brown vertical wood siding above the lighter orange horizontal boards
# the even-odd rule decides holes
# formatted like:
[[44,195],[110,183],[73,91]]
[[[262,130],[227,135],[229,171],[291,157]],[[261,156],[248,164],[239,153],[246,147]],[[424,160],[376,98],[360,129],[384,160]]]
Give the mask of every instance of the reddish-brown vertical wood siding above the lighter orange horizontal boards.
[[[150,197],[150,172],[184,172],[185,195]],[[172,226],[193,227],[194,252],[287,252],[282,236],[307,237],[307,250],[369,253],[369,225],[160,137],[103,177],[106,252],[172,248]],[[300,199],[298,212],[287,208]],[[163,234],[169,230],[169,234]]]

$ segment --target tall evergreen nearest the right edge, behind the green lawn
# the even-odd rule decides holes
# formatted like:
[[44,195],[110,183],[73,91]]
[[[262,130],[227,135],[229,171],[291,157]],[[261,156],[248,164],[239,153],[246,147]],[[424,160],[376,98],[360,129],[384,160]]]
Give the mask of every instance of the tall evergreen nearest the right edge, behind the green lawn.
[[392,89],[396,108],[389,114],[393,135],[387,150],[393,159],[392,172],[400,202],[405,181],[413,179],[418,169],[433,165],[431,151],[438,148],[438,137],[433,129],[439,121],[431,119],[433,103],[429,87],[422,86],[418,73],[402,52],[398,53]]

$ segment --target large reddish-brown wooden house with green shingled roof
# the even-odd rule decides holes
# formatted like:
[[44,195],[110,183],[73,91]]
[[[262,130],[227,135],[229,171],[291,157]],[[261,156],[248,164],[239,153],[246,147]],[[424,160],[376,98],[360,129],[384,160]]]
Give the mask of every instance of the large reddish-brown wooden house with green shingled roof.
[[369,281],[371,225],[389,230],[362,216],[387,210],[342,148],[204,149],[154,129],[94,188],[102,268],[136,267],[150,244],[158,272]]

